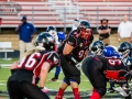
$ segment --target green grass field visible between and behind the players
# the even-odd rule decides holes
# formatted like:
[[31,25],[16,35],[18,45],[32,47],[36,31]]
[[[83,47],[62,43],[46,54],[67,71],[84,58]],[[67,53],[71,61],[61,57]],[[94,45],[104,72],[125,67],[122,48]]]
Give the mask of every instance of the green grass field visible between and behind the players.
[[[15,59],[11,59],[11,61],[2,61],[0,59],[0,64],[12,64],[13,62],[18,61]],[[50,81],[51,78],[53,78],[55,73],[55,69],[53,69],[47,77],[45,87],[47,87],[48,89],[54,89],[54,90],[58,90],[61,84],[62,84],[62,79],[64,78],[63,73],[61,72],[59,75],[59,79],[58,81]],[[7,90],[7,80],[10,76],[10,68],[9,67],[1,67],[0,68],[0,90]],[[91,89],[91,85],[89,84],[88,79],[86,78],[86,76],[81,73],[81,82],[79,85],[79,90],[80,91],[86,91],[86,90],[90,90]],[[72,88],[68,87],[66,90],[72,91]],[[51,99],[54,99],[54,97],[51,97]]]

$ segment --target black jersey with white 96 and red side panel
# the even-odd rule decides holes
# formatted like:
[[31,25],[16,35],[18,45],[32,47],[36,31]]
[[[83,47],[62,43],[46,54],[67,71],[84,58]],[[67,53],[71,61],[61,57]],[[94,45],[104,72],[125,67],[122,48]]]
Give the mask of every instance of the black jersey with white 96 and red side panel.
[[55,66],[59,66],[59,56],[55,52],[40,52],[22,58],[18,65],[18,70],[14,74],[19,81],[28,80],[32,84],[36,84],[36,78],[40,77],[43,63],[51,64],[51,69]]

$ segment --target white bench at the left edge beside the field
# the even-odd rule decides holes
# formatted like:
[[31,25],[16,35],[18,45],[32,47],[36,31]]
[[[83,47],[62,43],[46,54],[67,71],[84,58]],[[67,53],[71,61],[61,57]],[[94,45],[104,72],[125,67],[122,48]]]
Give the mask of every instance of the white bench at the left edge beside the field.
[[14,52],[11,42],[0,42],[0,52],[4,53],[4,59],[8,59],[7,53]]

